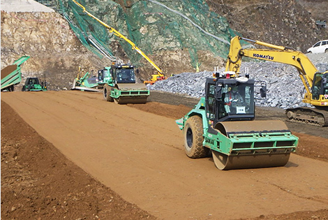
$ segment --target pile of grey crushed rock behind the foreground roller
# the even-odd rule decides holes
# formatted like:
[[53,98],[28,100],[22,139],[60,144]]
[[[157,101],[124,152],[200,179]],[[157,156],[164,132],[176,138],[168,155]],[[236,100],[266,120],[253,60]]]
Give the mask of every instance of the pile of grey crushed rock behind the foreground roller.
[[[328,54],[308,54],[309,59],[318,71],[328,70]],[[241,74],[246,72],[250,78],[267,82],[267,98],[256,100],[256,105],[276,108],[296,108],[310,105],[302,103],[305,88],[299,78],[297,69],[287,64],[270,61],[251,61],[241,63]],[[223,71],[222,68],[220,71]],[[213,71],[200,73],[181,73],[167,80],[147,85],[150,90],[167,91],[200,98],[204,96],[205,79],[211,77]]]

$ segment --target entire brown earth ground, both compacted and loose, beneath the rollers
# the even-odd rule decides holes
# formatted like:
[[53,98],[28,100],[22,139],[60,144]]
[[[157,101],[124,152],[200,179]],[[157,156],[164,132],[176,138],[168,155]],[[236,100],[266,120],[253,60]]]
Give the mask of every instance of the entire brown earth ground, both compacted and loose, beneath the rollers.
[[184,153],[174,121],[195,103],[1,93],[1,219],[328,219],[327,127],[286,122],[299,148],[284,167],[221,171]]

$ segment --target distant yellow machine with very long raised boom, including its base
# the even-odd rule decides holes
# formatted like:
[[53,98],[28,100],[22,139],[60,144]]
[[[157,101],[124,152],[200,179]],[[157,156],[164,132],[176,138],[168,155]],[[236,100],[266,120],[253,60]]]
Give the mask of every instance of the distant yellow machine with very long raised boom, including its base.
[[154,63],[154,61],[152,61],[151,59],[149,59],[149,57],[147,57],[146,54],[144,54],[144,52],[142,52],[139,47],[137,47],[135,45],[135,43],[133,43],[132,41],[130,41],[128,38],[126,38],[123,34],[119,33],[119,31],[117,31],[116,29],[114,29],[113,27],[110,27],[108,24],[105,24],[105,22],[101,21],[100,19],[98,19],[98,17],[92,15],[91,13],[89,13],[84,6],[82,6],[82,4],[78,3],[75,0],[72,0],[75,4],[77,4],[77,6],[79,6],[80,8],[82,8],[83,13],[86,13],[87,15],[89,15],[90,17],[94,18],[94,20],[96,20],[97,22],[99,22],[100,24],[103,24],[103,26],[105,26],[108,31],[110,31],[110,33],[114,34],[115,36],[118,36],[119,38],[124,39],[124,41],[128,42],[131,46],[132,46],[132,50],[137,51],[140,55],[142,55],[142,57],[144,57],[144,59],[147,59],[147,61],[149,61],[149,64],[151,64],[151,66],[154,66],[154,68],[156,68],[157,74],[153,74],[151,75],[151,80],[149,81],[144,81],[144,84],[154,84],[154,82],[158,81],[158,80],[165,80],[166,77],[163,73],[163,71],[161,70],[161,68],[159,68],[158,66],[156,66],[156,64]]

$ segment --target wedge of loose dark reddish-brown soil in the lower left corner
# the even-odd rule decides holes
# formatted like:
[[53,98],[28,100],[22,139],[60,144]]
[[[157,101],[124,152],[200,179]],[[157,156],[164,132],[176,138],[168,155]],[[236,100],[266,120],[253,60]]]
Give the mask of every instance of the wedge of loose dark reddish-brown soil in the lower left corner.
[[156,219],[123,200],[1,101],[1,219]]

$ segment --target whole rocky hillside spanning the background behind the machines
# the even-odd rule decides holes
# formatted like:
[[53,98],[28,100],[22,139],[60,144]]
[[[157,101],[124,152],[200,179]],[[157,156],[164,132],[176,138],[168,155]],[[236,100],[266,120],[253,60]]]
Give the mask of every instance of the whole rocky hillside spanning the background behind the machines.
[[[105,22],[115,20],[115,17],[105,17],[106,11],[110,11],[109,5],[100,7],[94,2],[86,3],[91,12],[99,13]],[[121,8],[117,9],[118,17],[126,17],[122,25],[117,26],[124,27],[119,31],[131,36],[167,75],[222,67],[229,48],[223,40],[237,33],[302,52],[316,41],[328,38],[328,29],[315,26],[315,20],[327,16],[322,8],[327,8],[328,2],[323,0],[165,0],[159,2],[163,6],[152,0],[106,2]],[[95,27],[93,23],[89,26]],[[131,46],[118,40],[110,40],[110,45],[114,54],[136,61],[140,66],[140,81],[154,73],[154,68],[131,50]],[[109,59],[87,50],[58,13],[1,11],[1,68],[23,55],[31,56],[22,66],[24,78],[45,75],[52,90],[70,89],[78,66],[90,71],[110,64]]]

